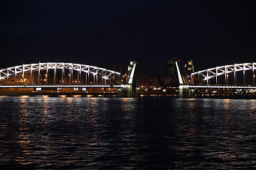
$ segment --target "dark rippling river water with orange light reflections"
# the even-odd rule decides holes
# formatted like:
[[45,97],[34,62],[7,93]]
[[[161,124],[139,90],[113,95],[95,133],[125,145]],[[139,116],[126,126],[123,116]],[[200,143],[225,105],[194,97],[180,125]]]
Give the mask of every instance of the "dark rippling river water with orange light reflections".
[[0,97],[0,169],[256,169],[256,100]]

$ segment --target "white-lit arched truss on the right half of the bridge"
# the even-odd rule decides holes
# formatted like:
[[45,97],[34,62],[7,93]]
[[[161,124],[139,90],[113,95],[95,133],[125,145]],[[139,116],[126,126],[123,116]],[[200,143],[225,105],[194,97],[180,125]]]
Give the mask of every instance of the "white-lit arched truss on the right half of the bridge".
[[203,84],[207,82],[209,84],[210,79],[216,79],[216,84],[218,84],[218,77],[225,75],[225,79],[228,74],[233,73],[234,77],[237,77],[237,72],[243,72],[252,70],[253,79],[255,79],[255,70],[256,70],[256,62],[252,63],[242,63],[242,64],[230,64],[220,67],[214,67],[211,69],[205,69],[199,72],[193,72],[191,74],[191,78],[196,80],[198,84]]

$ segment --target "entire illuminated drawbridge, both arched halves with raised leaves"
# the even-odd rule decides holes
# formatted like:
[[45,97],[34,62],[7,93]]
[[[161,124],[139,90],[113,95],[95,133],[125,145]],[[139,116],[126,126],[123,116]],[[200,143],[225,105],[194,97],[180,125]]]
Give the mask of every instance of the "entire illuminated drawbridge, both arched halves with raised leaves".
[[[190,62],[188,62],[189,64]],[[229,64],[198,72],[176,60],[180,98],[193,98],[198,91],[255,91],[256,62]],[[118,93],[137,96],[139,64],[130,62],[127,74],[87,64],[39,62],[0,69],[2,92],[46,93]],[[188,70],[186,70],[188,69]],[[193,70],[193,69],[192,69]]]

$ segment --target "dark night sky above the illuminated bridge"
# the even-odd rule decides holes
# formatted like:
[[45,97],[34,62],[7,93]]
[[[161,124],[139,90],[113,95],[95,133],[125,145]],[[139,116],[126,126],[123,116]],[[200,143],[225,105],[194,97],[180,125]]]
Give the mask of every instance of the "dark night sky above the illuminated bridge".
[[254,1],[1,0],[1,62],[142,62],[173,57],[195,69],[256,62]]

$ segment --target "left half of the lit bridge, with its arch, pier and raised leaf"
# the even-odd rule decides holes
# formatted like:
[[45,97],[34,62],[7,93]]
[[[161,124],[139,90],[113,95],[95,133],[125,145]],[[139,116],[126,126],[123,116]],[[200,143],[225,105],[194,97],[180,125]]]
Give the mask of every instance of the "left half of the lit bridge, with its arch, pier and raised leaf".
[[[29,91],[35,94],[52,93],[119,93],[134,96],[139,64],[130,62],[127,74],[122,75],[102,67],[65,62],[39,62],[0,69],[0,92]],[[93,90],[94,89],[94,90]]]

